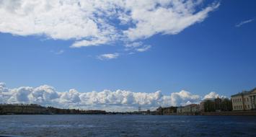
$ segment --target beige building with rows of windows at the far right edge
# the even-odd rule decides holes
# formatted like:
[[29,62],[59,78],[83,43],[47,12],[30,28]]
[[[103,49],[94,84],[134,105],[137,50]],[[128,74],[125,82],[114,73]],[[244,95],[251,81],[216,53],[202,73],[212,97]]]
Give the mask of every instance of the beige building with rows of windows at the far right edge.
[[231,96],[233,110],[255,110],[256,88]]

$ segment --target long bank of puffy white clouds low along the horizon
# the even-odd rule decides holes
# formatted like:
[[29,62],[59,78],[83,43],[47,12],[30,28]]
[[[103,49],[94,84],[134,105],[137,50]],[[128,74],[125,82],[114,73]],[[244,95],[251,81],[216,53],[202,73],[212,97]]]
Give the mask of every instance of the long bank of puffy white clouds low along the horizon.
[[154,110],[156,107],[182,106],[198,103],[206,98],[223,97],[215,92],[200,97],[182,90],[169,95],[161,91],[153,93],[131,92],[125,90],[103,90],[102,92],[78,92],[70,89],[69,92],[57,92],[54,87],[43,85],[40,87],[18,87],[9,89],[6,84],[0,83],[1,103],[25,103],[53,106],[61,108],[79,108],[84,110],[100,109],[107,111],[133,111],[138,106]]

